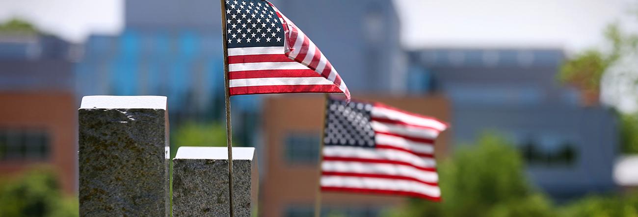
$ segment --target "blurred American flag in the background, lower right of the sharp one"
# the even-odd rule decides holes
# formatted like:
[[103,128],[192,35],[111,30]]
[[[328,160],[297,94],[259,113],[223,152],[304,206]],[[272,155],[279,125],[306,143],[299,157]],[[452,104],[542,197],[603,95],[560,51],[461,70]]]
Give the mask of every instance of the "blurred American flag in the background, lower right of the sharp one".
[[447,124],[380,103],[328,99],[322,191],[438,201],[434,139]]

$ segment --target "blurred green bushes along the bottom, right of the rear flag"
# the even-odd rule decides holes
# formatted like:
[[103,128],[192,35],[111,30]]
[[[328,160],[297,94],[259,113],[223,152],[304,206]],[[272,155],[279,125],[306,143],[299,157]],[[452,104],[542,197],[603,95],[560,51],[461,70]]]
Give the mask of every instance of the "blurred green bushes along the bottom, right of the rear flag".
[[440,203],[411,199],[384,216],[638,216],[638,192],[554,203],[530,185],[509,143],[487,132],[474,146],[461,146],[438,168]]

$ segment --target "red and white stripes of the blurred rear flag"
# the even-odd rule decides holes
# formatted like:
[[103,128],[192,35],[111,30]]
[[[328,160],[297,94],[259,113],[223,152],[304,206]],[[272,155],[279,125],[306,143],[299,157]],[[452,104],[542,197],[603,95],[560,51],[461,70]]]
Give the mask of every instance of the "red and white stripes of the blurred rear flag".
[[438,201],[434,139],[447,125],[434,118],[375,104],[375,148],[324,146],[324,191],[408,195]]

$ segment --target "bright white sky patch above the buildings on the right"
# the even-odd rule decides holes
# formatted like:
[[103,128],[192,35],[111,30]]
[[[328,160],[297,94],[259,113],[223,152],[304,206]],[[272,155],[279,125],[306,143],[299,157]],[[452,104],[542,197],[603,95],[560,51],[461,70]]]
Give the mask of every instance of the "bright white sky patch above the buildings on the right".
[[600,43],[605,25],[628,20],[629,8],[638,9],[636,0],[395,2],[403,12],[399,15],[406,48],[533,46],[580,50]]

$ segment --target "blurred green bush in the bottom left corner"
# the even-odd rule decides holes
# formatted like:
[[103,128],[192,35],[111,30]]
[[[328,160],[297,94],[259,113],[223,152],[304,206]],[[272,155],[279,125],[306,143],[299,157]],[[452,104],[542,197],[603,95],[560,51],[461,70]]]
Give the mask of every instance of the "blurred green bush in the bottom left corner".
[[77,197],[65,197],[49,169],[33,169],[0,186],[0,216],[78,216]]

